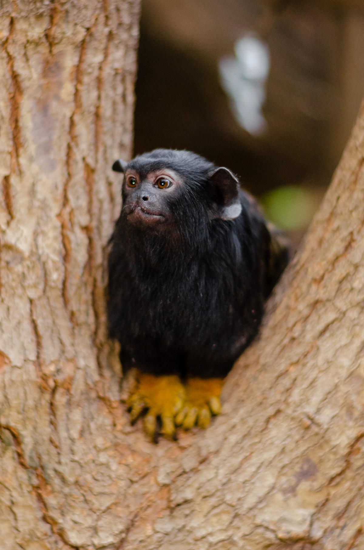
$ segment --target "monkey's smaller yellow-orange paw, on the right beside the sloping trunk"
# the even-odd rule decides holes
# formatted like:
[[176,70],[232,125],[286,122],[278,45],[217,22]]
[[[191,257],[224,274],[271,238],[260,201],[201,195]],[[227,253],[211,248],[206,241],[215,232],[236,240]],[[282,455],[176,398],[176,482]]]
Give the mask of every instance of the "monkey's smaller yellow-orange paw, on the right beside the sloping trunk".
[[221,410],[222,384],[223,378],[189,378],[186,403],[175,418],[176,426],[189,430],[197,423],[198,427],[207,428],[211,415],[217,415]]

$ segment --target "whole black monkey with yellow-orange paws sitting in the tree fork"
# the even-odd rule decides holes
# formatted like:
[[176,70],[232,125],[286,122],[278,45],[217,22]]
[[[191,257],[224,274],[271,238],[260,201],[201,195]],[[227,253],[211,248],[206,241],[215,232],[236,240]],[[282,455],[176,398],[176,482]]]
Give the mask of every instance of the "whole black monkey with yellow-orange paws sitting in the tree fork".
[[156,149],[124,173],[111,237],[108,323],[125,370],[137,369],[131,420],[145,431],[208,426],[223,378],[256,335],[288,261],[237,178],[189,151]]

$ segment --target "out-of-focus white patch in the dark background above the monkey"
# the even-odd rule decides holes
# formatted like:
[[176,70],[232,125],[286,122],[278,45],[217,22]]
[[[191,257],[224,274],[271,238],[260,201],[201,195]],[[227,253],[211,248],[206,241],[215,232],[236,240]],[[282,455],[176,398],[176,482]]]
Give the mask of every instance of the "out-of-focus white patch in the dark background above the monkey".
[[231,98],[234,116],[253,135],[266,130],[261,109],[269,66],[267,45],[253,36],[240,38],[235,45],[235,57],[224,57],[219,63],[221,84]]

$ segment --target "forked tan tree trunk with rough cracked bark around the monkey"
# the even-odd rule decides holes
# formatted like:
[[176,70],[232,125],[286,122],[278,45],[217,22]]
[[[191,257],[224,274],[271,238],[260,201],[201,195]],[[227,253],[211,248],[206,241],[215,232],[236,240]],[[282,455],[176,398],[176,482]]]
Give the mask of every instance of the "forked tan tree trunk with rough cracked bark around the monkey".
[[137,2],[0,7],[1,549],[363,548],[364,107],[222,414],[153,445],[103,295]]

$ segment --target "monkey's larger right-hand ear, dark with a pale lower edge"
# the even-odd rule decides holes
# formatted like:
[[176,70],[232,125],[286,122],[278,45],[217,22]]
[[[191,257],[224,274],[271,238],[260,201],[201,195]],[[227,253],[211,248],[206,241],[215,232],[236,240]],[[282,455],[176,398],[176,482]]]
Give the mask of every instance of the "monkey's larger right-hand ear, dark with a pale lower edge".
[[210,176],[214,206],[210,218],[235,219],[242,211],[239,200],[239,181],[227,168],[217,168]]

